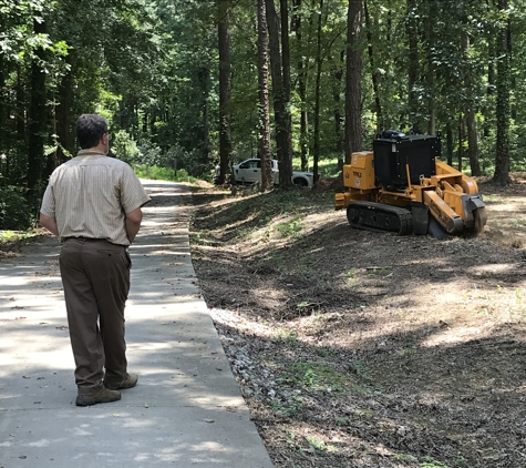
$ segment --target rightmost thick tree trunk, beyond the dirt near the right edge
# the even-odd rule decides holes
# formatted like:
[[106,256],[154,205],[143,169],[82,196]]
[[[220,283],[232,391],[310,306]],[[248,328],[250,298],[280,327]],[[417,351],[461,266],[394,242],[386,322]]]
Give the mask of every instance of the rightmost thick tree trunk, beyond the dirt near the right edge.
[[[507,9],[507,0],[498,0],[502,13]],[[509,177],[509,59],[510,48],[509,19],[503,24],[497,35],[497,154],[493,180],[502,185],[512,182]]]

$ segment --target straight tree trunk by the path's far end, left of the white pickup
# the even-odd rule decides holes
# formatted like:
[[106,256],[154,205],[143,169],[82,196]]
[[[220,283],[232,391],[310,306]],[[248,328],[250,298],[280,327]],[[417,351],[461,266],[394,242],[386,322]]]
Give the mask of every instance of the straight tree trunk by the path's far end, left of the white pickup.
[[229,0],[218,0],[219,7],[219,184],[230,163],[230,38],[228,33]]

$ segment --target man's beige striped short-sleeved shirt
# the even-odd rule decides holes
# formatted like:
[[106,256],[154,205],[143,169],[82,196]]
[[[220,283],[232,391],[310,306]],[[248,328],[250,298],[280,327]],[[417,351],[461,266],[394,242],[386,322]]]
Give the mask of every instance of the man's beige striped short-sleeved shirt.
[[151,199],[132,167],[93,150],[51,174],[40,212],[56,221],[60,237],[103,238],[130,245],[125,215]]

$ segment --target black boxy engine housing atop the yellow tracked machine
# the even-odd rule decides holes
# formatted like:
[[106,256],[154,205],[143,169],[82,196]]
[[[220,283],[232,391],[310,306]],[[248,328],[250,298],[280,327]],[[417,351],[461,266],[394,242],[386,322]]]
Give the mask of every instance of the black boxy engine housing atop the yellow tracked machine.
[[419,184],[421,176],[435,175],[441,139],[440,135],[405,135],[385,130],[373,140],[373,152],[377,185],[403,191],[410,184]]

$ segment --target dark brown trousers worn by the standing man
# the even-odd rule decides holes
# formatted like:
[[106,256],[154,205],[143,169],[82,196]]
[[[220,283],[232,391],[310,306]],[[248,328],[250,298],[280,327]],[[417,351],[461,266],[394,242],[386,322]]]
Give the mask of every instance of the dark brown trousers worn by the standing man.
[[[60,252],[79,395],[126,378],[124,306],[132,264],[124,246],[66,238]],[[104,375],[105,368],[105,375]]]

